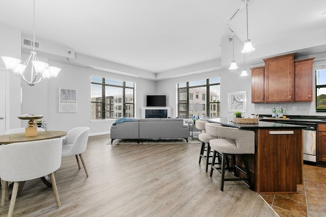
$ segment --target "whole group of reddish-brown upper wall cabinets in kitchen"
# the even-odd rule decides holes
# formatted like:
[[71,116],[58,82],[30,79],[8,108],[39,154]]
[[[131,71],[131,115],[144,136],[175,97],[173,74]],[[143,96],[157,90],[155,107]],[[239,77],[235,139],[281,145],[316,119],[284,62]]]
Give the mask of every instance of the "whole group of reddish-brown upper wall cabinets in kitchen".
[[251,68],[252,103],[312,102],[313,59],[294,60],[295,53],[263,59]]

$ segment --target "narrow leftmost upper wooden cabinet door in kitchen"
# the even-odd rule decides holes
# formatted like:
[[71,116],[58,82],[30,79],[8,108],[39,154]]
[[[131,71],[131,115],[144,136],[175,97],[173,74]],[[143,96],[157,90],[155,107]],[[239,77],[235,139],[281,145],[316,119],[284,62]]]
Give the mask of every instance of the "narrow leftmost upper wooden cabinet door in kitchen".
[[251,68],[251,102],[264,102],[264,67]]

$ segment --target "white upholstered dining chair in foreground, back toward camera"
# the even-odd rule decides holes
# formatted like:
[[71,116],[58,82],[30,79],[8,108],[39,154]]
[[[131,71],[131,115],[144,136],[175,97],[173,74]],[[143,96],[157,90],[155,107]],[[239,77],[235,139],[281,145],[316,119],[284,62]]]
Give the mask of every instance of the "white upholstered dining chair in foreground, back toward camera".
[[61,139],[48,139],[4,145],[0,148],[1,206],[8,200],[8,182],[14,182],[8,216],[12,216],[19,182],[49,175],[58,207],[60,199],[54,172],[61,166]]

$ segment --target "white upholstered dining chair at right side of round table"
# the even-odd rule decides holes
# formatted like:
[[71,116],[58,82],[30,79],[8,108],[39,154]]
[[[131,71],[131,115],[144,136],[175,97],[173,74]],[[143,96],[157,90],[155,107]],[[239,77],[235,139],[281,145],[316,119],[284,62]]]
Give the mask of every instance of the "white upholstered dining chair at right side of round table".
[[87,176],[88,176],[88,172],[86,169],[86,165],[82,153],[86,151],[89,132],[90,129],[88,127],[73,128],[70,131],[68,131],[67,136],[63,140],[63,145],[62,145],[62,157],[75,156],[77,160],[78,168],[80,170],[80,164],[78,160],[78,155],[79,155],[79,158],[82,161]]

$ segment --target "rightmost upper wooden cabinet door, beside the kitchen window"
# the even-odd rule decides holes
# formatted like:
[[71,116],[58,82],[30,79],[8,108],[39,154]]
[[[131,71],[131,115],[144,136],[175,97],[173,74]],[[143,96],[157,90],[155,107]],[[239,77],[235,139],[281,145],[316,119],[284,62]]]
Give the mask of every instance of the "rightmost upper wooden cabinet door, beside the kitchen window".
[[294,61],[295,101],[312,102],[312,64],[314,58]]

